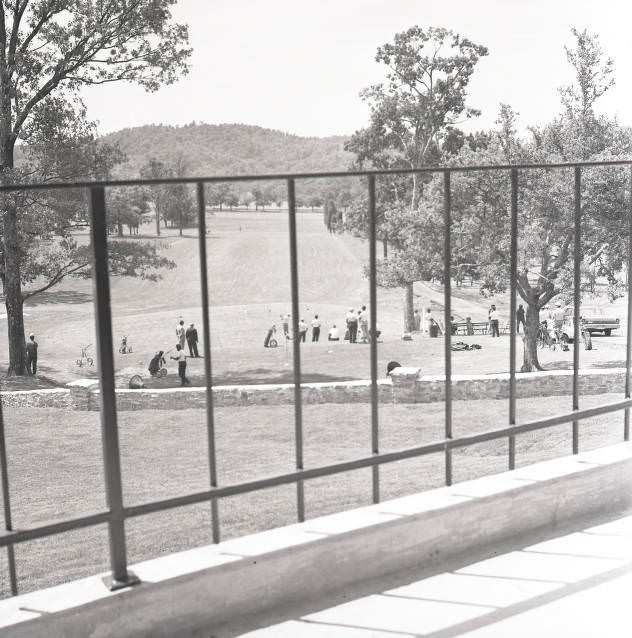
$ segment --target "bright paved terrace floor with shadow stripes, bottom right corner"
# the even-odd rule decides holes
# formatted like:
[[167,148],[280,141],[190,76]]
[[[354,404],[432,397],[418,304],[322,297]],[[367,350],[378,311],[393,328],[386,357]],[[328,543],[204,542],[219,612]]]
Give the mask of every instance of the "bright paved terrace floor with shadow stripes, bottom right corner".
[[[394,585],[394,583],[397,583]],[[405,583],[405,584],[402,584]],[[632,636],[632,512],[445,571],[391,578],[213,638]],[[342,600],[346,598],[346,600]],[[315,611],[317,610],[317,611]]]

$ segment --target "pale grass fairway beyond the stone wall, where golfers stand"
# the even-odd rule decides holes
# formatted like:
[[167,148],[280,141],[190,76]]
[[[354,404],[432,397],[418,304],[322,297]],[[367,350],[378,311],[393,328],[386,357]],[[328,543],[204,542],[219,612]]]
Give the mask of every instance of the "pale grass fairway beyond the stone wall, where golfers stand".
[[[217,213],[208,216],[211,346],[214,382],[225,384],[282,383],[292,381],[291,347],[281,341],[276,349],[263,348],[268,327],[279,323],[279,316],[291,310],[289,242],[285,213]],[[298,229],[298,275],[300,312],[308,323],[315,313],[323,322],[323,336],[336,323],[344,324],[350,307],[358,308],[369,298],[363,268],[368,261],[368,245],[350,235],[330,235],[320,214],[300,213]],[[151,226],[145,230],[151,231]],[[85,241],[85,237],[78,237]],[[201,327],[198,238],[195,229],[179,237],[167,229],[157,237],[164,254],[177,268],[163,272],[157,283],[113,278],[112,318],[117,346],[127,335],[134,351],[115,353],[118,369],[129,368],[147,376],[147,364],[158,349],[169,350],[175,342],[175,326],[180,317]],[[128,241],[135,241],[129,239]],[[381,249],[381,248],[380,248]],[[452,308],[457,319],[471,316],[485,320],[489,303],[494,301],[507,318],[503,299],[485,299],[475,289],[454,289]],[[415,284],[415,305],[432,306],[440,314],[443,291],[426,284]],[[402,342],[403,292],[377,291],[377,319],[382,328],[378,349],[378,371],[385,373],[388,361],[422,368],[426,374],[443,372],[443,340],[415,335]],[[504,310],[503,310],[504,308]],[[613,310],[623,319],[623,313]],[[503,320],[504,320],[503,319]],[[1,318],[0,322],[6,321]],[[624,322],[622,321],[622,325]],[[58,385],[76,378],[95,376],[96,367],[77,367],[81,346],[95,343],[91,282],[67,279],[51,291],[37,295],[25,306],[25,329],[35,332],[40,347],[39,379],[3,379],[3,389]],[[582,367],[619,365],[625,360],[623,331],[610,338],[596,337],[594,349],[581,351]],[[201,331],[200,331],[201,334]],[[310,336],[308,335],[308,340]],[[0,323],[0,368],[6,366],[6,326]],[[509,367],[509,339],[489,336],[462,338],[483,346],[477,352],[456,352],[455,373],[506,372]],[[290,344],[291,346],[291,344]],[[522,341],[517,342],[518,363]],[[92,356],[94,345],[90,350]],[[369,348],[346,342],[306,343],[301,346],[303,381],[367,379],[370,377]],[[543,351],[547,368],[572,365],[572,352]],[[170,364],[173,362],[169,361]],[[194,383],[203,385],[203,361],[189,360],[188,373]],[[148,381],[148,386],[178,385],[176,369],[170,365],[165,380]]]

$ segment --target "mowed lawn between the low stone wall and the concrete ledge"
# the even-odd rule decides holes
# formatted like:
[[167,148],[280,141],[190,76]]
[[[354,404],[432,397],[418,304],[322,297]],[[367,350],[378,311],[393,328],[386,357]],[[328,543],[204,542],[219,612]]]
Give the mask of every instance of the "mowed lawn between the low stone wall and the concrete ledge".
[[[582,407],[621,395],[583,397]],[[524,422],[570,408],[570,397],[518,402]],[[443,438],[444,406],[381,405],[383,451]],[[5,409],[13,522],[16,529],[85,515],[104,508],[99,415],[57,409]],[[454,403],[454,434],[502,427],[506,401]],[[185,494],[209,485],[205,412],[140,411],[119,414],[126,504]],[[622,439],[622,414],[581,423],[580,448]],[[294,469],[292,406],[216,410],[217,459],[222,485]],[[563,456],[571,450],[571,424],[517,438],[517,463]],[[305,467],[351,459],[371,450],[370,406],[304,406]],[[507,468],[506,440],[454,453],[454,480]],[[382,499],[444,484],[441,454],[385,465]],[[311,480],[305,486],[308,518],[370,504],[371,470]],[[222,539],[296,522],[294,485],[220,501]],[[210,542],[208,504],[174,509],[127,522],[131,563]],[[16,546],[22,592],[107,571],[105,526],[61,534]],[[9,593],[6,552],[0,552],[0,594]]]

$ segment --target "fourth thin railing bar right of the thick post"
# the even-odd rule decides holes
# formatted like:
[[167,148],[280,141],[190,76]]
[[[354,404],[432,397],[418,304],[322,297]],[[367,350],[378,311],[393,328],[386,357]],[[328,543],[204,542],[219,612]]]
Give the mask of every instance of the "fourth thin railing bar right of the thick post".
[[[445,438],[452,438],[452,287],[450,227],[452,225],[452,194],[450,192],[450,171],[443,172],[443,323],[444,365],[445,365]],[[445,483],[452,485],[452,450],[445,450]]]

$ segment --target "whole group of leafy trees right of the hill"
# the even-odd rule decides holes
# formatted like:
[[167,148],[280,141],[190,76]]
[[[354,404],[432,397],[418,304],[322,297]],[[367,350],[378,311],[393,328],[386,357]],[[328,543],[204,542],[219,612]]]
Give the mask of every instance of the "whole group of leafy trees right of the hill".
[[[447,29],[413,27],[378,48],[385,82],[362,98],[369,125],[345,148],[355,167],[410,169],[424,165],[493,165],[629,159],[632,135],[616,119],[599,115],[595,104],[612,86],[612,61],[599,38],[572,29],[566,47],[572,82],[560,89],[561,110],[548,124],[532,126],[522,139],[517,113],[501,104],[493,130],[465,135],[457,126],[478,111],[466,89],[484,46]],[[518,274],[514,282],[526,304],[523,371],[539,369],[540,310],[551,299],[572,298],[574,177],[572,170],[522,170],[519,174]],[[388,176],[377,181],[377,234],[384,243],[378,282],[405,291],[405,328],[413,329],[413,283],[465,274],[481,281],[481,292],[507,290],[510,264],[510,178],[508,171],[452,174],[453,254],[444,272],[444,184],[441,174]],[[628,252],[629,169],[586,169],[581,182],[582,289],[588,273],[605,276],[609,295],[623,294],[620,273]],[[354,199],[344,230],[368,233],[367,201]],[[512,318],[513,320],[513,318]]]

